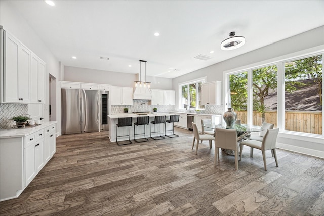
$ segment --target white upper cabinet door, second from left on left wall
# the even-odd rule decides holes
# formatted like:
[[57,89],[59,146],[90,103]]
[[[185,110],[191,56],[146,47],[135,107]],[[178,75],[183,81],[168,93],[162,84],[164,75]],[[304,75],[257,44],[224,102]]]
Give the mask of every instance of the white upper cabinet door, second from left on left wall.
[[18,100],[20,103],[30,103],[31,52],[22,45],[18,62]]

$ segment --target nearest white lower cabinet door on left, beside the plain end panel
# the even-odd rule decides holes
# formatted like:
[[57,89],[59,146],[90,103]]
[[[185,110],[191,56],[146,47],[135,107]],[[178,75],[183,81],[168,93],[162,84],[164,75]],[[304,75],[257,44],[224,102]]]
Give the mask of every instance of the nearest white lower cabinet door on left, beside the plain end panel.
[[35,145],[25,148],[25,187],[36,176],[35,168]]

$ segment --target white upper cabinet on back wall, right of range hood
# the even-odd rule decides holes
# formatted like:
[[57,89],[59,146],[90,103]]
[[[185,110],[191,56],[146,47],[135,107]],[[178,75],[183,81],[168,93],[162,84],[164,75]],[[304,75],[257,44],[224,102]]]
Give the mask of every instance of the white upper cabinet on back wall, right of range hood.
[[175,105],[176,92],[174,90],[152,89],[151,105]]

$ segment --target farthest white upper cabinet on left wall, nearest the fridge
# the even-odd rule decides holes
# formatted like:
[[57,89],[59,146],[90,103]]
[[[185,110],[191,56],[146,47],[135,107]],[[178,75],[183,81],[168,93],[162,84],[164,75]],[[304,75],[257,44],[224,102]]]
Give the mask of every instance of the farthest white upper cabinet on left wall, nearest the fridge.
[[45,104],[45,62],[31,54],[31,103]]

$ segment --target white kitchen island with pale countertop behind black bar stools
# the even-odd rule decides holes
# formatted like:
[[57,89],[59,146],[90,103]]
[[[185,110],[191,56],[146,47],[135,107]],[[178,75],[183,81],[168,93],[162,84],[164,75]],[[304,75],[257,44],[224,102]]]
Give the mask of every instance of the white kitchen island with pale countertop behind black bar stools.
[[[134,123],[137,121],[137,117],[139,116],[149,116],[150,120],[149,120],[149,124],[145,125],[146,127],[146,137],[150,137],[150,129],[151,129],[151,121],[154,121],[154,117],[155,116],[166,116],[166,120],[169,119],[169,116],[171,115],[170,113],[167,112],[156,112],[156,113],[150,113],[150,114],[146,114],[146,115],[138,115],[138,114],[112,114],[112,115],[108,115],[109,118],[109,139],[111,142],[116,142],[116,124],[118,123],[118,118],[127,118],[127,117],[132,117],[133,118],[133,123],[132,126],[130,127],[130,137],[131,140],[134,139]],[[161,135],[164,135],[164,124],[161,125],[152,125],[152,132],[157,132],[157,133],[152,133],[152,136],[157,136],[157,134],[159,134],[159,126],[161,126]],[[170,123],[166,123],[166,130],[168,131],[167,134],[172,134],[171,130],[172,129],[172,124]],[[136,134],[141,134],[144,133],[144,126],[140,125],[140,126],[136,126]],[[124,137],[118,137],[118,142],[119,140],[128,140],[128,127],[119,127],[118,128],[118,136],[124,136]],[[136,135],[135,139],[140,139],[140,138],[144,138],[144,135]]]

